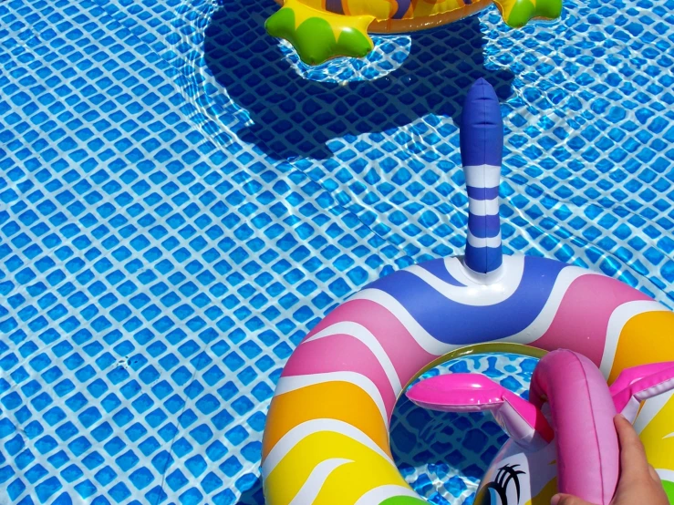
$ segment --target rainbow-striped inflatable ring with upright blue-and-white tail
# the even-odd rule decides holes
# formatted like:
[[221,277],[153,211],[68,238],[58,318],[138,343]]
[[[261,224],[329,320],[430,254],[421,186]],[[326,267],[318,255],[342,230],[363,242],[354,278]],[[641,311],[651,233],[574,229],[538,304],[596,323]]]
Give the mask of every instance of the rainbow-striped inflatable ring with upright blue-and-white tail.
[[[502,149],[499,102],[480,79],[461,118],[469,197],[465,255],[413,265],[369,284],[297,346],[264,428],[268,505],[425,503],[392,459],[389,421],[407,386],[453,357],[493,351],[541,357],[568,349],[586,356],[619,390],[629,390],[625,376],[617,380],[628,368],[674,361],[674,313],[647,295],[576,266],[503,255]],[[633,396],[638,402],[648,397]],[[637,428],[674,503],[674,397],[648,400]],[[541,493],[554,488],[508,505],[547,504],[549,496],[544,501]]]

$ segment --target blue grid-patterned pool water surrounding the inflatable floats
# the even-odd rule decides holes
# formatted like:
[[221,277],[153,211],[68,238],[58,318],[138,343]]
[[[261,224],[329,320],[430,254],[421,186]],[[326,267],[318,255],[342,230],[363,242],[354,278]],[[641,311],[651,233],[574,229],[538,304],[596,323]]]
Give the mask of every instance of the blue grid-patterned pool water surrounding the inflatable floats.
[[[567,1],[519,32],[492,8],[313,69],[264,36],[274,9],[0,2],[3,502],[261,503],[299,339],[379,275],[461,252],[476,77],[503,102],[506,251],[674,300],[673,0]],[[473,438],[432,458],[461,474],[396,438],[438,503],[470,496],[500,437],[449,421]]]

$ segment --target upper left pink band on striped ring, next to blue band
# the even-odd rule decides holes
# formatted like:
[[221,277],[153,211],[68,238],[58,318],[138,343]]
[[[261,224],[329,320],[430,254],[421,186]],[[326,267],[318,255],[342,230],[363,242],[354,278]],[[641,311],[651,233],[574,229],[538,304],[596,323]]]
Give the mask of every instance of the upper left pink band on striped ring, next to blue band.
[[426,366],[437,358],[425,351],[414,340],[408,329],[388,309],[370,300],[352,300],[337,307],[311,331],[311,335],[341,321],[350,321],[368,329],[377,338],[404,386]]

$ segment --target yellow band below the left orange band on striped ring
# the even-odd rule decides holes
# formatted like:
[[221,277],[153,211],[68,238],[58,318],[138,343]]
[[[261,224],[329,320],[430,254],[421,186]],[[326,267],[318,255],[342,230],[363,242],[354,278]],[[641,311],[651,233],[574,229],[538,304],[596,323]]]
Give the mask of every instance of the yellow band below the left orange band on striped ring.
[[[353,462],[333,468],[308,490],[304,484],[328,459]],[[300,490],[316,497],[314,505],[337,505],[336,500],[338,505],[353,505],[368,490],[387,484],[407,486],[392,460],[346,435],[321,431],[308,435],[287,453],[264,480],[264,489],[268,505],[289,505]]]

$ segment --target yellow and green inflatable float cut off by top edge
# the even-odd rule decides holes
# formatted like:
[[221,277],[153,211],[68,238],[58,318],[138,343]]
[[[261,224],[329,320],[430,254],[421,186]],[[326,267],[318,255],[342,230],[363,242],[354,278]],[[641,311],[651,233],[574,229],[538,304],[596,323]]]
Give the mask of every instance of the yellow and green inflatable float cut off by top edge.
[[[319,65],[334,57],[365,57],[374,48],[368,33],[405,33],[458,21],[492,0],[276,0],[281,9],[267,33],[292,44],[300,59]],[[508,26],[556,19],[562,0],[493,0]]]

